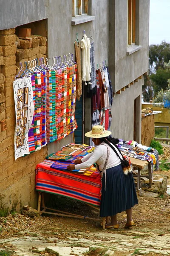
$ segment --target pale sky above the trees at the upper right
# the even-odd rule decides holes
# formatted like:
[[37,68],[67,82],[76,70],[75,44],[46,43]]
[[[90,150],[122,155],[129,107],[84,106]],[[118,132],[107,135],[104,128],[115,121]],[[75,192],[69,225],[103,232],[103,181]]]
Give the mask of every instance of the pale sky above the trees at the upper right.
[[170,43],[170,0],[150,0],[149,44]]

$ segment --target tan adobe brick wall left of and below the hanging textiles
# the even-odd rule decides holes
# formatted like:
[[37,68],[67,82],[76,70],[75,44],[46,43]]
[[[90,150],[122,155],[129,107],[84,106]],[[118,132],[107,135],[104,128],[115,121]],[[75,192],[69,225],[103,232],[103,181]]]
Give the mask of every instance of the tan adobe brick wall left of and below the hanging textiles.
[[[15,29],[0,31],[0,121],[6,119],[7,130],[0,128],[0,195],[6,206],[11,209],[14,204],[17,210],[23,204],[37,207],[37,193],[35,192],[35,167],[48,154],[47,146],[40,151],[33,152],[26,157],[14,159],[14,131],[15,106],[13,81],[16,76],[16,66],[20,62],[37,57],[46,57],[46,39],[32,36],[31,48],[28,41],[20,42],[20,49],[16,48]],[[23,49],[22,49],[23,47]]]

